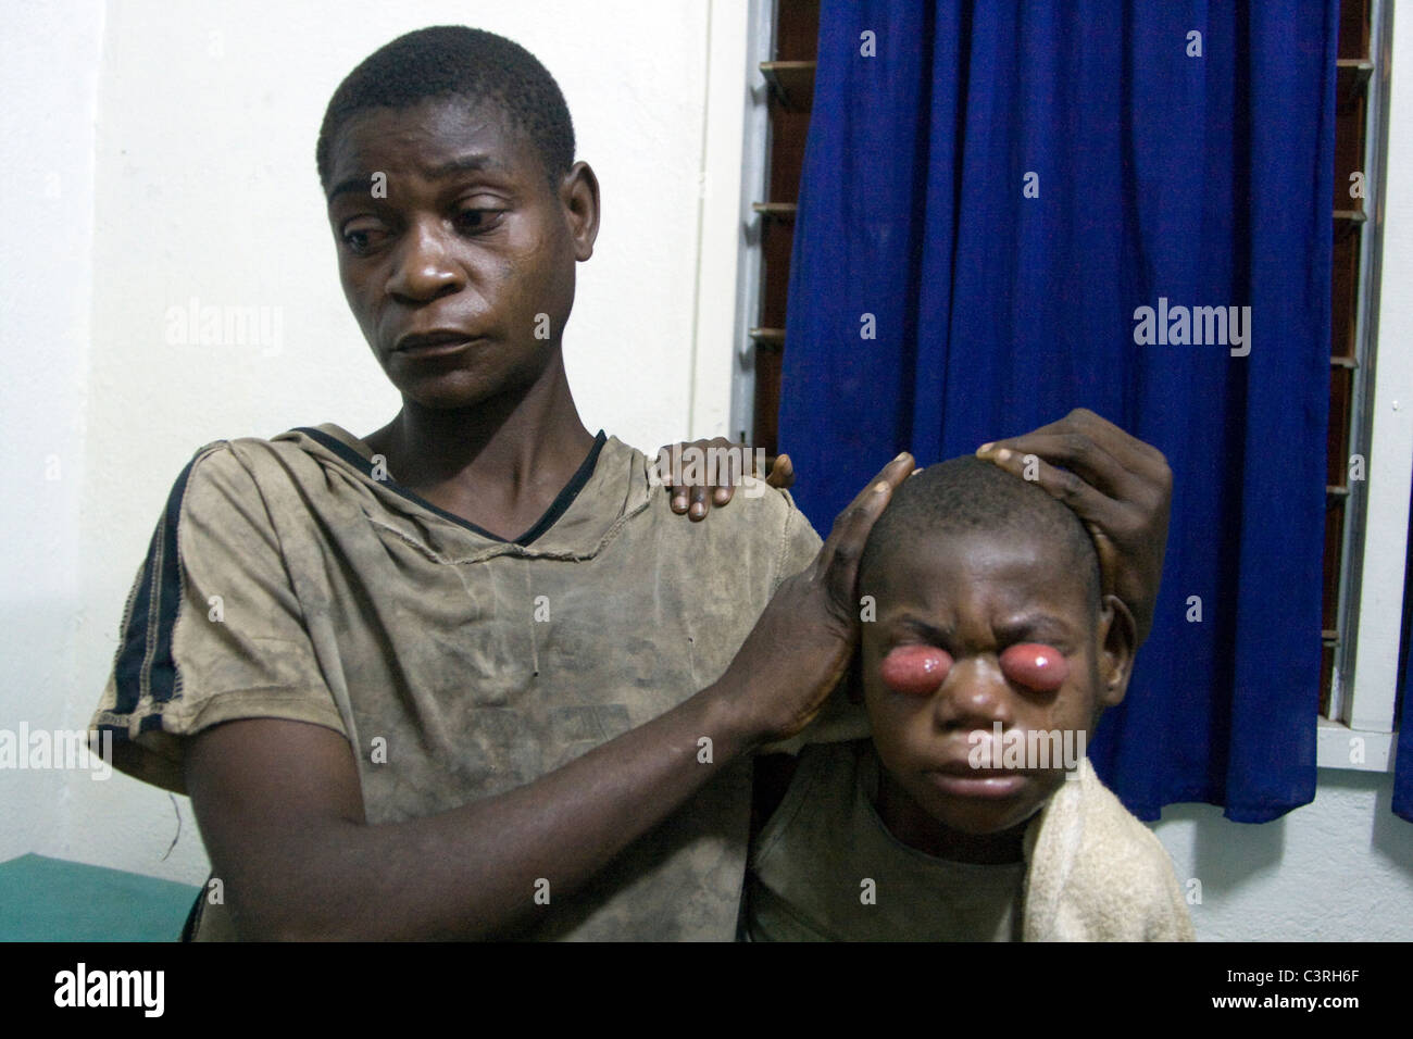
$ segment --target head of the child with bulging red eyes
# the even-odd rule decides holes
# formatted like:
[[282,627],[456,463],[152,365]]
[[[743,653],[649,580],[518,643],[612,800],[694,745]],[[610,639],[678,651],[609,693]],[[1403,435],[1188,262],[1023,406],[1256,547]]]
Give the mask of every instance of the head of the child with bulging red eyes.
[[899,488],[859,594],[876,604],[863,693],[900,840],[1003,834],[1064,782],[1133,660],[1133,621],[1101,588],[1080,519],[1034,483],[964,457]]

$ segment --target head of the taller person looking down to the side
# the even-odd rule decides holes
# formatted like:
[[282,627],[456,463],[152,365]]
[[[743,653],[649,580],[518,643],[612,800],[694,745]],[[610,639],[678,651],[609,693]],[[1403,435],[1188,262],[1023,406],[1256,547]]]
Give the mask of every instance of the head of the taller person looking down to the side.
[[349,307],[404,399],[473,407],[558,356],[599,196],[519,44],[424,28],[366,58],[315,150]]

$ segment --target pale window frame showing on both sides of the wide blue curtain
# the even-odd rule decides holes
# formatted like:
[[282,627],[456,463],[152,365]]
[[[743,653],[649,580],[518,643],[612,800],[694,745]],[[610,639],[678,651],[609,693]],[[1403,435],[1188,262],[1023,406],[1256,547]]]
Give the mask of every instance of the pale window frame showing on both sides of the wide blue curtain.
[[[1364,481],[1349,483],[1345,506],[1342,570],[1347,578],[1340,604],[1344,649],[1332,676],[1332,717],[1317,712],[1313,718],[1317,766],[1356,772],[1392,772],[1395,765],[1397,720],[1393,714],[1413,491],[1413,349],[1399,345],[1413,342],[1413,301],[1385,298],[1379,291],[1385,278],[1389,284],[1413,284],[1413,76],[1399,83],[1390,75],[1393,52],[1413,61],[1413,21],[1405,20],[1400,28],[1392,8],[1388,0],[1373,0],[1369,11],[1369,54],[1375,62],[1368,90],[1364,161],[1364,201],[1369,219],[1361,229],[1362,284],[1355,332],[1362,387],[1355,392],[1349,441],[1351,451],[1365,455],[1366,469]],[[735,153],[740,161],[735,223],[739,233],[732,264],[736,305],[728,418],[728,435],[745,442],[755,442],[756,437],[755,351],[759,345],[749,329],[760,312],[766,219],[750,206],[766,198],[770,187],[769,88],[762,81],[759,64],[774,58],[774,30],[776,0],[749,0],[743,140]],[[1399,133],[1390,134],[1390,127]],[[714,168],[735,168],[731,165],[733,158],[715,163]],[[1393,206],[1388,205],[1388,196],[1393,198]]]

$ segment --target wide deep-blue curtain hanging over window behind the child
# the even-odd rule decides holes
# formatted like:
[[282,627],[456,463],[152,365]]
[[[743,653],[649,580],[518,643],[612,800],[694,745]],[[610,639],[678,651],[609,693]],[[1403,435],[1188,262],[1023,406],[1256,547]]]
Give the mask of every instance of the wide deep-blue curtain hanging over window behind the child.
[[[1314,797],[1335,25],[1335,0],[821,4],[780,407],[797,496],[827,529],[899,450],[1077,406],[1159,447],[1157,619],[1091,746],[1143,818]],[[1195,307],[1236,321],[1194,329]]]

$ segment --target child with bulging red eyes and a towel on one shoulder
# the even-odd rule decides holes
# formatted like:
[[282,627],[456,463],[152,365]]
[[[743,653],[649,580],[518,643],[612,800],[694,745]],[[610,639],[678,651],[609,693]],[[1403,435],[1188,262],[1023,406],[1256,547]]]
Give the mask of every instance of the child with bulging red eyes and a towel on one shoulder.
[[801,753],[753,843],[747,936],[1191,940],[1161,844],[1084,756],[1135,626],[1074,513],[976,458],[924,469],[859,591],[873,738]]

